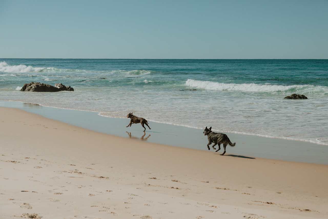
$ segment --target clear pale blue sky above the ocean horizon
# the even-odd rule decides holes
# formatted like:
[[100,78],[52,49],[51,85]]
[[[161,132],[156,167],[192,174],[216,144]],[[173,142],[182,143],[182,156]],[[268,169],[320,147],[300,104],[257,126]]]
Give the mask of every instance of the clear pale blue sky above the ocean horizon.
[[328,58],[328,0],[0,0],[0,58]]

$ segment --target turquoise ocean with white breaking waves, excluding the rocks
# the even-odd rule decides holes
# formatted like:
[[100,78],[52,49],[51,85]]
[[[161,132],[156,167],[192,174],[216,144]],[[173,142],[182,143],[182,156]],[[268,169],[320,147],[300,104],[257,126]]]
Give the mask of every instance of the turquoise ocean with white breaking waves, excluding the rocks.
[[0,59],[0,100],[328,145],[328,60]]

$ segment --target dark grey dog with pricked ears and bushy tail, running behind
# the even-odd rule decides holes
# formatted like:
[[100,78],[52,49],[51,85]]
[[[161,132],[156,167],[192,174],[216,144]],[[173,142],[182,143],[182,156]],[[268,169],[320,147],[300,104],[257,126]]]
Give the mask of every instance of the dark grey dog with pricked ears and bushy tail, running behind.
[[204,135],[207,135],[207,139],[208,139],[208,144],[207,144],[207,148],[208,150],[210,150],[210,144],[214,143],[214,145],[212,145],[212,148],[214,150],[215,149],[215,145],[217,144],[219,146],[219,149],[217,149],[215,152],[219,151],[221,149],[220,144],[223,144],[223,148],[224,148],[224,152],[221,155],[225,154],[225,148],[226,146],[229,144],[230,146],[234,147],[236,145],[236,143],[231,143],[230,139],[228,138],[228,136],[226,134],[223,133],[215,133],[211,131],[212,127],[210,127],[209,129],[206,128],[204,129]]

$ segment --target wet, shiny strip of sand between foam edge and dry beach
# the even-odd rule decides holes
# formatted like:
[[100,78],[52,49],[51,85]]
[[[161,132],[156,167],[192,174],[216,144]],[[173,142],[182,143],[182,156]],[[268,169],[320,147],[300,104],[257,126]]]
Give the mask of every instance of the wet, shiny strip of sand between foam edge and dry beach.
[[[125,138],[141,138],[141,140],[152,143],[208,152],[206,146],[208,143],[207,136],[204,136],[200,129],[151,122],[152,130],[147,128],[144,135],[140,124],[133,124],[132,127],[126,128],[125,126],[129,122],[128,119],[102,117],[98,115],[98,112],[43,107],[41,105],[7,101],[0,101],[0,107],[23,109],[100,133]],[[236,147],[227,147],[227,155],[229,156],[328,164],[328,147],[326,145],[235,133],[229,133],[228,136],[232,142],[236,142]],[[211,152],[212,150],[211,148]]]

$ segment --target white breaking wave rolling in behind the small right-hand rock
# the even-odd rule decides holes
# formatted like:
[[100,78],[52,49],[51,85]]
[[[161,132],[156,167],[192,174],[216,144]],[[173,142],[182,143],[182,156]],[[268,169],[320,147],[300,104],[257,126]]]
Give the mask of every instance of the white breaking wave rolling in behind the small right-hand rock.
[[274,92],[274,91],[296,91],[306,90],[315,92],[328,92],[328,87],[314,85],[258,85],[258,84],[225,84],[210,81],[197,81],[188,79],[187,86],[203,88],[206,90],[232,90],[245,92]]

